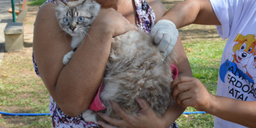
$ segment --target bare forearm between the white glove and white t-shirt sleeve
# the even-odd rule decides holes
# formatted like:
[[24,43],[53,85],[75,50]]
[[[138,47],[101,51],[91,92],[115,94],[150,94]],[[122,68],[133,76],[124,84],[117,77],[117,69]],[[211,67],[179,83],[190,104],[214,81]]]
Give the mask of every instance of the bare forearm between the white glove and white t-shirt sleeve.
[[204,25],[220,25],[209,0],[181,1],[169,9],[162,19],[173,21],[176,28],[191,23]]

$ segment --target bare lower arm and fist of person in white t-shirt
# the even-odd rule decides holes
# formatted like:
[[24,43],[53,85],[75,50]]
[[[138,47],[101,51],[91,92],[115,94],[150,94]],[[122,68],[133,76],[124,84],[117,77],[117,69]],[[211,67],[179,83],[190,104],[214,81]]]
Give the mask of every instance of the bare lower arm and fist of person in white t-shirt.
[[256,102],[235,100],[210,94],[200,80],[178,77],[174,80],[173,97],[182,107],[194,107],[246,127],[256,126]]

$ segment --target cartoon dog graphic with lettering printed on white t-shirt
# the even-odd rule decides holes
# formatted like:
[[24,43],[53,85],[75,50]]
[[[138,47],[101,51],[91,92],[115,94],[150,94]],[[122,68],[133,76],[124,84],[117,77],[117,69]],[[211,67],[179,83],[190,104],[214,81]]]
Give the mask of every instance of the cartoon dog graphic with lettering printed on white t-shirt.
[[[228,74],[228,75],[227,75]],[[255,35],[243,36],[238,34],[234,40],[233,51],[230,57],[220,65],[220,80],[228,78],[229,92],[233,97],[247,100],[244,93],[256,98],[256,39]],[[235,88],[239,88],[236,90]],[[242,91],[242,92],[241,92]]]

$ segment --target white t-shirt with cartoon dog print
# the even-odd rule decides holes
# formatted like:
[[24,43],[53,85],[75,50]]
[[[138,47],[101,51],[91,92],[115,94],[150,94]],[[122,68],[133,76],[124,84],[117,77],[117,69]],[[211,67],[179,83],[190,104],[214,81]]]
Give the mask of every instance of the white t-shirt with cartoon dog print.
[[[217,95],[256,101],[256,1],[210,0],[210,3],[221,23],[217,26],[219,35],[228,38],[220,63]],[[218,117],[214,126],[243,127]]]

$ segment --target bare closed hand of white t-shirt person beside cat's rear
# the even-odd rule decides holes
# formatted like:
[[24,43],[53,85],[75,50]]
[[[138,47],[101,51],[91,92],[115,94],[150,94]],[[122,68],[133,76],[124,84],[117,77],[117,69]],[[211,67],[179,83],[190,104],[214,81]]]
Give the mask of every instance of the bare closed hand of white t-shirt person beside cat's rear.
[[199,111],[210,109],[211,95],[202,82],[196,78],[181,76],[172,84],[172,96],[181,107],[194,107]]

